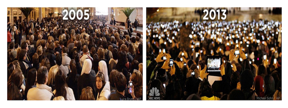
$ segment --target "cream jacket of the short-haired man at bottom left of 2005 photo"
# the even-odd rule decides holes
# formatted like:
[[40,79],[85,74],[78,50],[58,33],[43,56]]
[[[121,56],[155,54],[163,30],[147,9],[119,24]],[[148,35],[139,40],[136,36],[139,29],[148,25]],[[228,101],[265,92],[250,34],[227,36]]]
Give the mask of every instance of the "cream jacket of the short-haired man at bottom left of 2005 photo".
[[36,84],[36,87],[28,90],[27,100],[51,100],[52,88],[44,84]]

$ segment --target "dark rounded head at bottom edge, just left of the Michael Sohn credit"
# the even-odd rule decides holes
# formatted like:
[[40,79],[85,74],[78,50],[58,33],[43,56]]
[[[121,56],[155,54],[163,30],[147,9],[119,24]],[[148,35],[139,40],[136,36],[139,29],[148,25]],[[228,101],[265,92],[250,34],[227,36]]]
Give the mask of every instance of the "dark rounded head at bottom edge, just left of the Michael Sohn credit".
[[238,89],[233,89],[229,93],[228,98],[227,98],[227,100],[245,100],[245,99],[246,99],[245,94],[241,90],[238,90]]

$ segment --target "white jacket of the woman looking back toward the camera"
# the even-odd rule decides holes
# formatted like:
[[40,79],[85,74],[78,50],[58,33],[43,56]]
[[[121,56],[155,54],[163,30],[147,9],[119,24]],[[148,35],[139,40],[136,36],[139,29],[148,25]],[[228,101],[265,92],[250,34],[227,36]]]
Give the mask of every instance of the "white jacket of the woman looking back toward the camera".
[[110,82],[109,81],[105,81],[105,85],[103,87],[103,90],[100,93],[99,96],[99,92],[97,94],[97,100],[108,100],[108,96],[110,95]]

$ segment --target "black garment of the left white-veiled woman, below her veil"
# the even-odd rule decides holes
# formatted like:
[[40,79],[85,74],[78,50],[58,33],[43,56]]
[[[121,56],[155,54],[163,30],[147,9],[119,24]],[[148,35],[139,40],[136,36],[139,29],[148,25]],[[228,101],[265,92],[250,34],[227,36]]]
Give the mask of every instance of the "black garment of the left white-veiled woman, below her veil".
[[90,74],[84,73],[83,75],[78,77],[78,83],[77,83],[78,99],[80,99],[82,89],[87,86],[92,88],[93,95],[95,99],[97,98],[95,79],[96,78],[92,76],[91,72]]

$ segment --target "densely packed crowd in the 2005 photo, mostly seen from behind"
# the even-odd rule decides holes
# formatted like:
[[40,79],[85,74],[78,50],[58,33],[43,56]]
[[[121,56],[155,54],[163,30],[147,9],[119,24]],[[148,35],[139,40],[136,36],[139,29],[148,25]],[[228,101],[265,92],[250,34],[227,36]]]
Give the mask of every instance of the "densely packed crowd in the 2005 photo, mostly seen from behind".
[[143,100],[141,35],[96,21],[7,25],[7,100]]

